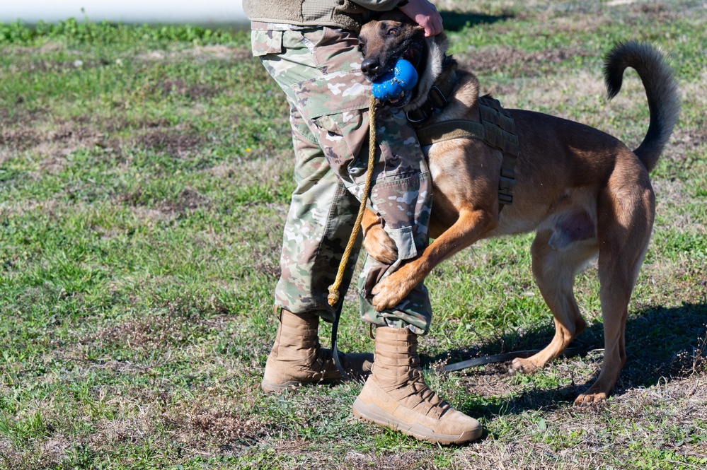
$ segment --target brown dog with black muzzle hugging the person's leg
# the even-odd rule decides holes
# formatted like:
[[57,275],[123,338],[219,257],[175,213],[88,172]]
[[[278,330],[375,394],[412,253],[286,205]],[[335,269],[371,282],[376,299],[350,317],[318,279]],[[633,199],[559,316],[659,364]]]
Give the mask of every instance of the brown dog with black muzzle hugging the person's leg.
[[[420,117],[430,109],[432,90],[453,79],[443,102],[422,114],[428,125],[452,119],[480,121],[479,83],[448,57],[444,35],[425,37],[423,28],[400,11],[383,13],[360,31],[361,70],[369,81],[393,69],[399,57],[418,71],[415,88],[387,105]],[[605,78],[609,98],[621,88],[627,67],[638,71],[650,107],[648,131],[635,151],[602,131],[567,119],[526,110],[507,110],[515,121],[518,156],[512,204],[499,198],[503,156],[480,139],[459,138],[425,147],[433,180],[430,245],[401,264],[372,290],[381,311],[397,305],[440,262],[477,240],[535,231],[532,271],[552,311],[555,335],[511,370],[533,372],[560,356],[587,326],[573,295],[574,278],[598,256],[604,363],[597,380],[575,404],[607,399],[626,363],[628,301],[643,263],[655,217],[655,195],[648,173],[667,145],[679,115],[672,72],[653,47],[623,42],[608,54]],[[438,94],[438,93],[437,93]],[[439,101],[439,100],[437,100]],[[415,114],[418,112],[418,114]],[[500,210],[502,208],[502,210]],[[381,262],[396,259],[384,221],[364,214],[364,247]]]

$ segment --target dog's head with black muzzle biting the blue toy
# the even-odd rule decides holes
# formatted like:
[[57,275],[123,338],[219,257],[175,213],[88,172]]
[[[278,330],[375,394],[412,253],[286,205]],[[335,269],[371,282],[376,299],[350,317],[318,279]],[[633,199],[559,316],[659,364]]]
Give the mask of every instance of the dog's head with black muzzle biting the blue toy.
[[[425,30],[399,11],[387,11],[364,24],[359,33],[364,61],[361,71],[369,81],[374,81],[393,70],[401,57],[413,64],[418,76],[423,78],[427,67],[428,42]],[[396,107],[403,107],[418,92],[418,85],[403,96],[389,100]]]

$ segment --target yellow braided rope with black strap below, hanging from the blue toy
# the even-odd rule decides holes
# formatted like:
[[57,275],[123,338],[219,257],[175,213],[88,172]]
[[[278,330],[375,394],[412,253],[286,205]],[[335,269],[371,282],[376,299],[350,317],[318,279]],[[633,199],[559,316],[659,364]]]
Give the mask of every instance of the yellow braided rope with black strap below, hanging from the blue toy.
[[339,358],[339,351],[337,348],[337,342],[336,342],[336,337],[339,329],[339,319],[341,317],[341,307],[343,302],[340,302],[340,293],[339,289],[341,288],[341,282],[343,281],[344,278],[344,271],[346,270],[346,265],[349,262],[349,258],[351,257],[351,252],[353,251],[353,247],[356,243],[356,238],[358,237],[359,232],[361,231],[361,221],[363,219],[363,213],[366,210],[366,201],[368,200],[368,193],[371,190],[371,180],[373,177],[373,165],[375,163],[376,159],[376,98],[374,95],[371,95],[371,99],[369,100],[369,105],[368,105],[368,115],[369,115],[369,143],[368,143],[368,168],[366,170],[366,183],[364,184],[363,187],[363,194],[361,197],[361,205],[358,208],[358,215],[356,216],[356,223],[353,227],[353,230],[351,230],[351,236],[349,237],[349,242],[346,245],[346,249],[344,250],[343,257],[341,258],[341,262],[339,263],[339,269],[336,272],[336,278],[334,279],[334,283],[329,286],[329,295],[327,297],[327,300],[329,302],[330,306],[334,306],[338,304],[338,308],[336,309],[336,312],[334,314],[334,322],[331,325],[331,355],[333,356],[334,359],[334,364],[336,365],[336,368],[339,370],[340,374],[344,377],[346,380],[350,380],[351,377],[346,373],[346,370],[344,370],[343,366],[341,365],[341,360]]

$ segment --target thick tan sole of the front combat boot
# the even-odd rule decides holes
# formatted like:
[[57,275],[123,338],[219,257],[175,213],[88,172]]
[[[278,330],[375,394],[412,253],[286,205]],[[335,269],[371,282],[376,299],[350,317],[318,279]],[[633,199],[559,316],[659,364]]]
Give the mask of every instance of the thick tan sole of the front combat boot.
[[481,426],[467,430],[459,435],[435,433],[427,426],[417,423],[406,423],[406,421],[396,418],[384,409],[375,404],[364,403],[361,399],[356,399],[353,406],[354,416],[370,423],[376,423],[386,428],[398,430],[403,434],[415,437],[415,439],[426,440],[434,444],[450,445],[464,444],[481,437],[483,429]]

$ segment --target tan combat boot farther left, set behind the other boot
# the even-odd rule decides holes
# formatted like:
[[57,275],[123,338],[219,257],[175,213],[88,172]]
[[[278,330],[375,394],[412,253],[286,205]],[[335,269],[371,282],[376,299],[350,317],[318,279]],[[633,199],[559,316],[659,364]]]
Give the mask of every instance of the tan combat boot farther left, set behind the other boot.
[[[343,379],[331,351],[319,345],[318,328],[318,315],[294,314],[282,309],[280,328],[260,383],[263,392],[282,392],[289,387]],[[371,371],[373,355],[340,354],[340,360],[348,375],[360,378]]]

